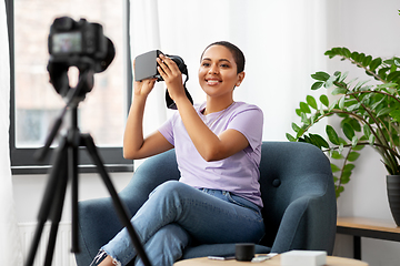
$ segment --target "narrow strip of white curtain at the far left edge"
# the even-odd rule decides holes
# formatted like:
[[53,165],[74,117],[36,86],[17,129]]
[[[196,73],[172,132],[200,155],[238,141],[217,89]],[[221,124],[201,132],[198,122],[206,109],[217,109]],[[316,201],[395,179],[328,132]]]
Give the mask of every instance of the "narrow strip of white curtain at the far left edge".
[[22,265],[12,196],[9,156],[10,65],[4,1],[0,2],[0,257],[1,264]]

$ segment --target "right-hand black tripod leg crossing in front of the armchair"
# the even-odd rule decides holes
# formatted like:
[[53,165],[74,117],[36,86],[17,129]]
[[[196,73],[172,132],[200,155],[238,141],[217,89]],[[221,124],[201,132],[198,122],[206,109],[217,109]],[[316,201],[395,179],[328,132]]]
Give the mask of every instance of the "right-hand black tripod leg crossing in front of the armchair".
[[83,134],[82,140],[84,141],[84,145],[86,145],[89,154],[91,155],[91,158],[93,160],[96,166],[98,167],[98,171],[111,195],[112,202],[114,204],[116,211],[119,215],[119,218],[120,218],[122,225],[126,226],[128,229],[128,233],[131,237],[131,241],[133,243],[133,246],[134,246],[139,257],[142,259],[142,262],[146,266],[151,266],[150,260],[144,253],[144,248],[139,241],[139,236],[136,233],[132,224],[130,223],[130,218],[128,217],[128,212],[124,208],[121,200],[119,198],[117,191],[112,185],[110,176],[108,175],[106,167],[99,156],[99,153],[97,152],[97,147],[94,145],[93,139],[89,134]]

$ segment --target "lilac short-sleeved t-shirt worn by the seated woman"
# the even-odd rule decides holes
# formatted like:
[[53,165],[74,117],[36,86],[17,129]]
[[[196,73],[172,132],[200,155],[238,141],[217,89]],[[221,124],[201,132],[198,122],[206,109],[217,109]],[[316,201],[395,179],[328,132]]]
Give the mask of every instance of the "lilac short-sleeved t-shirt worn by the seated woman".
[[160,129],[160,133],[174,146],[180,182],[197,188],[229,191],[262,207],[260,172],[262,143],[262,111],[252,104],[234,102],[228,109],[203,115],[206,103],[196,105],[196,111],[210,130],[219,135],[232,129],[241,132],[250,145],[230,157],[207,162],[193,145],[179,112]]

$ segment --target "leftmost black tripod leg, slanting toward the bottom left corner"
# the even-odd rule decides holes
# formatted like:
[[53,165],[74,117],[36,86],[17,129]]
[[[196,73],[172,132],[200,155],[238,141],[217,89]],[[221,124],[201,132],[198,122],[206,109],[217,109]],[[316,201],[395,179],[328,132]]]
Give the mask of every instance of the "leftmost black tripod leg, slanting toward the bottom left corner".
[[54,164],[51,174],[49,176],[49,183],[47,184],[44,196],[38,214],[38,226],[34,231],[33,241],[26,260],[27,266],[33,265],[34,256],[36,253],[38,252],[44,223],[49,219],[50,211],[53,209],[53,203],[54,203],[53,197],[57,195],[60,183],[58,173],[59,170],[62,168],[66,163],[66,156],[64,156],[66,152],[67,152],[67,140],[62,139],[58,150],[56,151]]

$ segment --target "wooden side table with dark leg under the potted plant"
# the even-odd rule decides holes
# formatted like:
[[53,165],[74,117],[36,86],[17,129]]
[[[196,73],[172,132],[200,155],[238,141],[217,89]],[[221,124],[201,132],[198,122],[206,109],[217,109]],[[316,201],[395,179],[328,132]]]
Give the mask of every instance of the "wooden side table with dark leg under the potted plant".
[[400,227],[392,221],[338,217],[337,233],[353,236],[353,257],[357,259],[361,259],[361,237],[400,242]]

